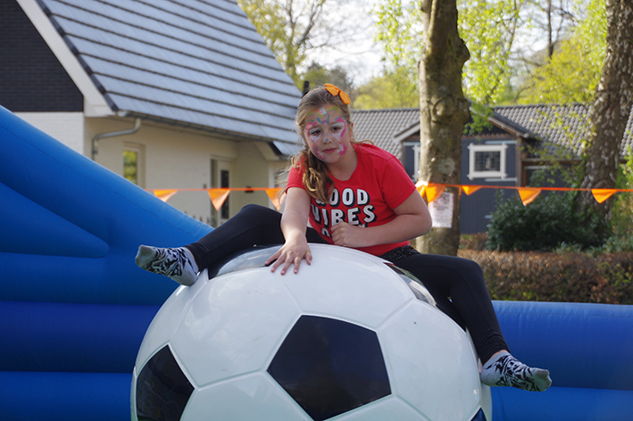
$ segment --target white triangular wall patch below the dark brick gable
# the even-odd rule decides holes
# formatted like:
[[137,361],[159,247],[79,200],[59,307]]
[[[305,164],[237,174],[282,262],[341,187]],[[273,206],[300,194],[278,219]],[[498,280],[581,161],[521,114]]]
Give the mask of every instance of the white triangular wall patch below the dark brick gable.
[[16,115],[73,151],[86,155],[83,112],[16,112]]

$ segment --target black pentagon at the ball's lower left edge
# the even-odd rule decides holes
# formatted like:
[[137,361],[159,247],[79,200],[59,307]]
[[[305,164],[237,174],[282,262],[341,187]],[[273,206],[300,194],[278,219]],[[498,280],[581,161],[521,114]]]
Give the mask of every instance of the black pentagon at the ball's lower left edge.
[[147,361],[137,376],[138,421],[179,421],[194,386],[180,366],[169,346]]

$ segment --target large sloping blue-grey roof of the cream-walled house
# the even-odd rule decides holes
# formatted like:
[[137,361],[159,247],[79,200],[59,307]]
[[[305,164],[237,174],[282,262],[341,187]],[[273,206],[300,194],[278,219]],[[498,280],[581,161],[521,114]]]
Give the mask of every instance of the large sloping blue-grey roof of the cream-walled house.
[[235,0],[37,0],[112,111],[294,153],[301,94]]

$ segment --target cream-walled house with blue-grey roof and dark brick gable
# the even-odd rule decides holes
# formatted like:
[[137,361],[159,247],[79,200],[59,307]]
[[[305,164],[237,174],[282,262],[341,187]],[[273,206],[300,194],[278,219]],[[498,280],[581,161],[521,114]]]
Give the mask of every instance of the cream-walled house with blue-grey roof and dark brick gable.
[[296,153],[300,91],[235,0],[0,3],[0,105],[217,226],[200,189],[271,187]]

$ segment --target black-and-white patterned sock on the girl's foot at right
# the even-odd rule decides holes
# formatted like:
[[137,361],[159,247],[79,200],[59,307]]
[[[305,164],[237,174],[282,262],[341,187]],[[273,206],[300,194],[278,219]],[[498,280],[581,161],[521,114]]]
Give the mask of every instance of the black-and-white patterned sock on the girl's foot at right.
[[488,386],[512,386],[530,392],[543,392],[552,385],[548,370],[528,367],[508,352],[489,359],[480,378]]

